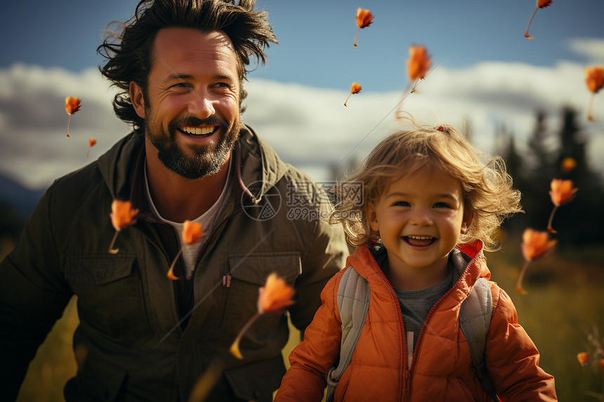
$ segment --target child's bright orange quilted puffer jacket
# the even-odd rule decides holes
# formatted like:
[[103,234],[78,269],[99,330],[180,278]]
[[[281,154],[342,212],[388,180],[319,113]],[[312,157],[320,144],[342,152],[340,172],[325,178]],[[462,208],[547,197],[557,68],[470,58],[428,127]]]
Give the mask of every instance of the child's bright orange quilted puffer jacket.
[[[350,366],[343,373],[335,401],[489,401],[476,377],[468,342],[459,328],[459,307],[478,278],[490,279],[482,243],[458,247],[471,257],[459,279],[428,313],[412,362],[400,304],[390,282],[367,248],[357,248],[352,265],[369,281],[371,300]],[[275,401],[321,401],[325,372],[338,358],[341,319],[337,309],[343,271],[325,286],[322,306],[306,328],[304,340],[289,356]],[[539,368],[539,351],[518,325],[516,308],[490,282],[493,314],[485,361],[501,401],[556,401],[553,377]]]

